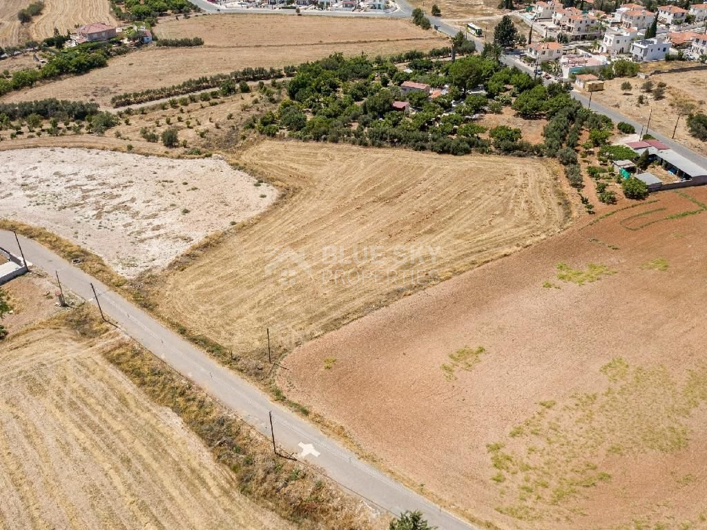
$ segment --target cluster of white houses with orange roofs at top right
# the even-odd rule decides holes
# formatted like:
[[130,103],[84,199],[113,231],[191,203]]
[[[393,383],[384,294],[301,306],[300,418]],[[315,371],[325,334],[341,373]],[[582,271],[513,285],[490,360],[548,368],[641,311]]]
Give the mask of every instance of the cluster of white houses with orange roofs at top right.
[[613,13],[593,8],[564,8],[559,1],[537,1],[524,14],[543,42],[524,51],[534,64],[557,61],[558,74],[598,70],[613,59],[660,61],[668,54],[704,62],[707,59],[707,4],[684,9],[674,4],[649,11],[641,4],[623,4]]

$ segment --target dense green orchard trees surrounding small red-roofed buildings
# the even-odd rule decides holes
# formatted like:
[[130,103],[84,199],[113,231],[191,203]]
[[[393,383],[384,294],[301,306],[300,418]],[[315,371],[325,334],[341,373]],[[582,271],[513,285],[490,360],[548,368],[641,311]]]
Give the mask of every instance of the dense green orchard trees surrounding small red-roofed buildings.
[[[448,90],[435,98],[429,98],[423,90],[404,96],[399,88],[404,81],[433,88],[446,86]],[[480,93],[479,87],[484,91]],[[549,96],[540,81],[483,56],[454,62],[416,57],[403,71],[381,57],[345,59],[334,54],[300,65],[288,83],[289,99],[281,102],[277,112],[252,119],[249,126],[268,136],[286,129],[289,136],[303,140],[346,141],[362,146],[407,146],[455,155],[472,149],[542,155],[542,144],[522,141],[520,129],[496,127],[489,131],[488,140],[479,136],[486,132],[484,127],[474,123],[480,112],[493,112],[496,106],[501,112],[503,106],[510,106],[514,98],[518,100],[528,92],[532,94],[525,96],[522,109],[542,114]],[[551,93],[566,95],[566,90],[560,86],[551,88]],[[394,109],[393,102],[405,99],[416,110],[414,114]],[[535,100],[542,100],[542,105]]]

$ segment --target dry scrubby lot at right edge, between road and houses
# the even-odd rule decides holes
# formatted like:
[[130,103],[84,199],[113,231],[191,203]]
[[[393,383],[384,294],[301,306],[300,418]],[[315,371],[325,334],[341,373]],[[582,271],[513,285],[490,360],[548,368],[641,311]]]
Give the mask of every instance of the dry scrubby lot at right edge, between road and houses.
[[[613,107],[621,114],[636,119],[642,124],[648,122],[650,128],[670,138],[677,120],[677,112],[672,104],[676,101],[686,100],[694,103],[695,112],[707,112],[707,70],[657,73],[648,78],[655,86],[666,83],[665,99],[655,100],[653,96],[643,93],[641,85],[643,80],[633,78],[629,80],[631,90],[621,90],[621,83],[625,78],[617,78],[604,83],[605,90],[594,94],[594,98],[602,105]],[[645,98],[644,105],[638,105],[638,96]],[[707,143],[700,141],[689,134],[685,117],[681,117],[675,132],[675,139],[702,155],[707,155]]]

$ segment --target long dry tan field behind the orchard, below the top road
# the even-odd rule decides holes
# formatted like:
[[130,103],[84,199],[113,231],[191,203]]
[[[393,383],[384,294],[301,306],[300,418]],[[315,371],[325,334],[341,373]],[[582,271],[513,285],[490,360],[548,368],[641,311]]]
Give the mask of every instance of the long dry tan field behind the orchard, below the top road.
[[[271,20],[272,19],[272,20]],[[203,22],[202,22],[203,20]],[[237,33],[224,31],[218,39],[219,45],[195,48],[158,48],[154,46],[137,52],[115,57],[108,66],[93,70],[83,76],[76,76],[47,83],[29,90],[11,93],[3,101],[37,100],[60,98],[70,100],[92,100],[103,107],[110,107],[113,95],[160,88],[181,83],[188,78],[210,76],[240,70],[246,66],[282,67],[300,64],[327,57],[334,52],[346,55],[365,53],[371,56],[394,54],[410,49],[426,51],[449,44],[447,39],[426,32],[406,20],[348,20],[338,17],[288,17],[240,15],[201,16],[175,22],[176,29],[171,35],[192,36],[189,33],[208,33],[209,24],[214,20],[235,20],[227,26],[229,31],[247,29],[247,39]],[[156,32],[164,31],[162,26],[172,28],[171,22],[156,26]],[[182,25],[184,24],[184,25]],[[299,31],[293,28],[299,24]],[[370,25],[370,28],[368,26]],[[261,26],[266,33],[257,31]],[[326,28],[326,29],[325,29]],[[368,28],[368,29],[366,29]],[[289,37],[291,33],[301,37],[302,42]],[[365,38],[361,38],[361,33]],[[387,37],[390,33],[393,36]],[[307,37],[307,35],[312,35]],[[326,35],[326,36],[325,36]],[[390,40],[389,40],[390,39]],[[281,43],[284,41],[284,43]]]

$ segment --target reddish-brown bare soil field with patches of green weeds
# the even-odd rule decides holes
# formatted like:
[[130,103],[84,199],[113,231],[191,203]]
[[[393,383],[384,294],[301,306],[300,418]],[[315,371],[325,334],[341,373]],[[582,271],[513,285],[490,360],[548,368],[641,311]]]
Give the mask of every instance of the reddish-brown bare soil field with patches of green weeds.
[[290,353],[279,384],[502,528],[703,529],[707,188],[660,192]]

